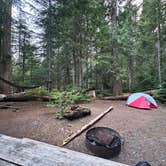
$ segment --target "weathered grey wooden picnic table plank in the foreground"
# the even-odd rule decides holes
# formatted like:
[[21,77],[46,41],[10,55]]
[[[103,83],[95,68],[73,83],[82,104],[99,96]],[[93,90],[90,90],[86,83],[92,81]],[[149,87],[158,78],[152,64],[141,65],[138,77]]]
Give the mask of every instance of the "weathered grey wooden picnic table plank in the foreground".
[[23,166],[127,166],[28,138],[0,135],[0,159]]

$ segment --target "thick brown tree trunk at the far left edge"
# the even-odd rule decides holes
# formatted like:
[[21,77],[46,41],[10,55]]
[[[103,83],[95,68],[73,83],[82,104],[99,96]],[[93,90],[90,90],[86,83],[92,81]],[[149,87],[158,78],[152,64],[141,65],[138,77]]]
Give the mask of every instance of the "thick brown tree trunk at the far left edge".
[[[11,7],[12,1],[5,2],[4,17],[1,27],[3,36],[1,38],[1,56],[0,56],[0,76],[6,80],[11,79]],[[11,87],[0,81],[0,93],[11,93]]]

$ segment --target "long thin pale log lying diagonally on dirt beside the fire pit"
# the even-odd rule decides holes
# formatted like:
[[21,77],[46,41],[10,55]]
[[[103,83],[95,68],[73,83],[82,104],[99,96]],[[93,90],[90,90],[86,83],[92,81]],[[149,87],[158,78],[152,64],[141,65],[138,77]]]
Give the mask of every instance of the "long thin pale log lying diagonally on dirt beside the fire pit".
[[70,135],[69,137],[67,137],[64,141],[62,146],[67,145],[69,142],[71,142],[74,138],[76,138],[77,136],[79,136],[81,133],[83,133],[85,130],[87,130],[89,127],[91,127],[92,125],[94,125],[96,122],[98,122],[102,117],[104,117],[107,113],[109,113],[111,110],[113,110],[113,107],[110,106],[106,111],[104,111],[103,113],[101,113],[100,115],[98,115],[95,119],[93,119],[92,121],[90,121],[88,124],[86,124],[85,126],[83,126],[80,130],[78,130],[76,133]]

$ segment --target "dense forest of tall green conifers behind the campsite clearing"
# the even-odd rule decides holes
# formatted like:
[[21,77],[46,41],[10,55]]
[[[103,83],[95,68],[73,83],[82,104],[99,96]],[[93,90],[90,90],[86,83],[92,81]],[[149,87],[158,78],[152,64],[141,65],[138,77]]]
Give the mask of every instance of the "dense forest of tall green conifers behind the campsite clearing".
[[159,88],[165,0],[0,0],[0,92],[20,86]]

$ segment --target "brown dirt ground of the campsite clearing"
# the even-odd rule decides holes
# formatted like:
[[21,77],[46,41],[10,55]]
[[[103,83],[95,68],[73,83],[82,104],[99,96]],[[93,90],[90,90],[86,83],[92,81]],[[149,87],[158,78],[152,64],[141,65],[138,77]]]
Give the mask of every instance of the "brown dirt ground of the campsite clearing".
[[[19,109],[16,112],[0,109],[1,134],[28,137],[57,146],[61,146],[64,138],[112,105],[114,110],[95,124],[117,130],[125,140],[120,155],[111,160],[128,165],[146,160],[152,166],[166,166],[166,107],[163,105],[159,105],[157,110],[141,110],[127,107],[124,101],[96,100],[83,104],[92,110],[91,116],[67,121],[55,119],[57,109],[48,108],[46,103],[0,103],[2,104],[10,104]],[[85,133],[65,148],[91,154],[85,147]]]

